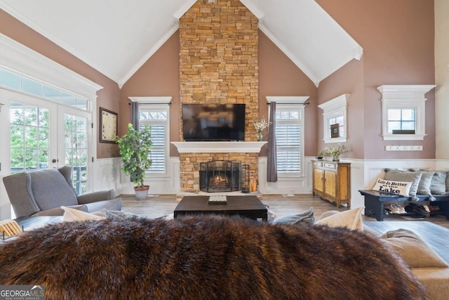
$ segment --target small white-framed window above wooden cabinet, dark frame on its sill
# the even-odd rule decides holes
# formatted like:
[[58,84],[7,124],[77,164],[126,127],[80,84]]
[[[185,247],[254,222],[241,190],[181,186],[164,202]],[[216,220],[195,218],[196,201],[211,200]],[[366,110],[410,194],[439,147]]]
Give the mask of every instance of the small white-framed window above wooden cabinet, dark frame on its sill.
[[347,140],[347,100],[351,96],[342,96],[318,105],[323,112],[324,143],[344,143]]

